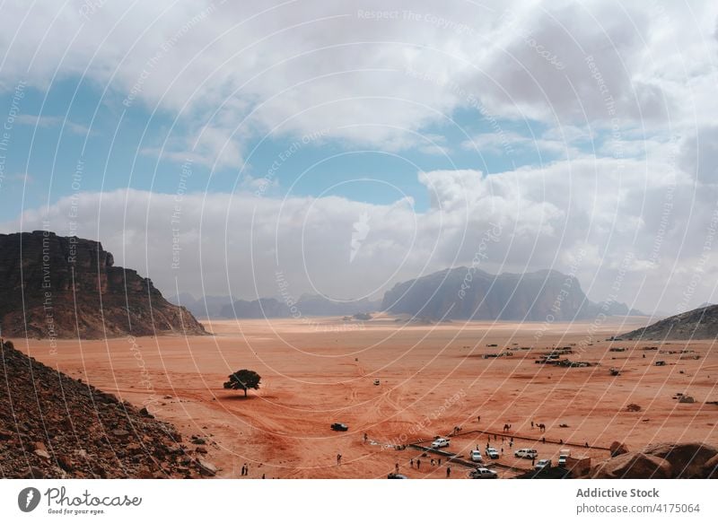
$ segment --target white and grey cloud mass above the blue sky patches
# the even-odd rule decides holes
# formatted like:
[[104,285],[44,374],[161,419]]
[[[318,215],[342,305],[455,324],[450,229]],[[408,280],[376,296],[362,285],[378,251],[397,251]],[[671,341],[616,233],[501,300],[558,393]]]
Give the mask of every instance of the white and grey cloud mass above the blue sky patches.
[[189,140],[216,131],[197,154],[221,165],[266,133],[328,128],[383,149],[425,147],[414,132],[471,97],[496,118],[608,128],[610,96],[621,129],[648,135],[708,124],[718,109],[718,5],[707,1],[87,5],[39,1],[26,17],[25,4],[4,4],[4,78],[83,74],[118,105],[192,122]]

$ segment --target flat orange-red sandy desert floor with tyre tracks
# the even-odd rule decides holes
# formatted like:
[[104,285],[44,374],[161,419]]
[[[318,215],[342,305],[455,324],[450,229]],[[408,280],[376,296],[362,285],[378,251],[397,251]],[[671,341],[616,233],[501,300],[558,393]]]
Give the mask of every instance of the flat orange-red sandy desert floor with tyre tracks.
[[[143,337],[134,345],[130,338],[61,341],[55,354],[37,340],[25,346],[16,342],[16,347],[135,405],[148,405],[186,436],[206,438],[220,477],[240,477],[245,463],[250,478],[386,477],[396,464],[412,478],[445,477],[445,459],[442,466],[432,466],[430,459],[438,456],[422,457],[418,449],[395,445],[445,436],[457,426],[461,431],[451,436],[449,450],[467,455],[490,441],[503,449],[492,467],[511,477],[530,468],[530,461],[512,456],[523,447],[556,462],[558,450],[568,445],[574,456],[607,458],[614,440],[629,449],[659,441],[718,445],[718,406],[705,403],[718,400],[712,342],[605,341],[645,321],[613,318],[593,327],[542,327],[407,326],[392,318],[364,324],[339,318],[215,320],[206,322],[215,336]],[[566,357],[600,365],[535,363],[553,346],[575,350],[596,327],[593,344]],[[610,347],[626,351],[610,352]],[[662,352],[686,349],[696,352]],[[503,351],[512,355],[483,358]],[[694,356],[698,359],[688,359]],[[667,364],[656,366],[657,360]],[[611,367],[620,368],[621,375],[610,376]],[[222,386],[230,372],[242,368],[262,377],[261,388],[247,398]],[[380,385],[373,384],[375,379]],[[680,404],[674,399],[679,392],[696,403]],[[629,404],[641,411],[628,412]],[[546,432],[532,428],[532,421],[545,423]],[[334,422],[346,423],[349,431],[331,431]],[[509,432],[503,432],[504,423],[511,424]],[[417,458],[422,461],[418,470]],[[451,465],[452,478],[467,472]]]

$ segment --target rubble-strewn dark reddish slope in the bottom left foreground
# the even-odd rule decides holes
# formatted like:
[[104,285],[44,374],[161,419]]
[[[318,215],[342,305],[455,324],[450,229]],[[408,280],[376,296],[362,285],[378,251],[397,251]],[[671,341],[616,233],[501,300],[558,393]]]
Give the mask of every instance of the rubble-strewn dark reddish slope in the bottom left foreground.
[[0,477],[206,475],[169,423],[0,341]]

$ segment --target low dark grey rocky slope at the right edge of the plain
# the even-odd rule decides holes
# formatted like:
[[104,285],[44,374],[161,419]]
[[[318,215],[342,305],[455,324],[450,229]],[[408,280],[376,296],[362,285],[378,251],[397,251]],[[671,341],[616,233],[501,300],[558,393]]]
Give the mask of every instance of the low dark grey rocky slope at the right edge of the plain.
[[688,310],[661,319],[648,327],[621,335],[624,339],[639,340],[712,340],[716,336],[718,336],[718,305]]

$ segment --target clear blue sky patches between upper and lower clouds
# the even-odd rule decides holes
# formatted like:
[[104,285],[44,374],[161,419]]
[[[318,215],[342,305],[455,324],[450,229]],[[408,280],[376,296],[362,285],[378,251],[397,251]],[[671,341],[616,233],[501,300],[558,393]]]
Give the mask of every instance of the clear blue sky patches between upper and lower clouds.
[[[181,155],[168,158],[146,151],[159,150],[165,141],[171,144],[186,132],[171,111],[152,111],[144,103],[127,108],[116,92],[78,77],[52,83],[47,91],[30,86],[24,92],[21,118],[13,123],[7,154],[0,220],[73,194],[78,161],[83,161],[83,191],[132,187],[172,194],[177,190]],[[9,110],[13,94],[0,93],[0,105]],[[504,119],[500,125],[504,132],[531,143],[547,128],[530,120]],[[541,150],[538,144],[513,144],[511,155],[500,146],[480,151],[462,146],[471,137],[495,135],[491,122],[472,108],[457,109],[422,132],[423,144],[401,151],[363,148],[333,137],[330,130],[314,135],[280,130],[255,136],[244,144],[250,154],[234,165],[213,169],[193,162],[188,191],[250,190],[246,177],[267,177],[275,182],[268,193],[273,196],[333,195],[383,205],[410,196],[416,209],[423,211],[429,195],[418,181],[420,170],[473,169],[492,174],[565,156]],[[442,150],[433,149],[433,142]],[[30,175],[26,184],[20,176],[24,173]]]

